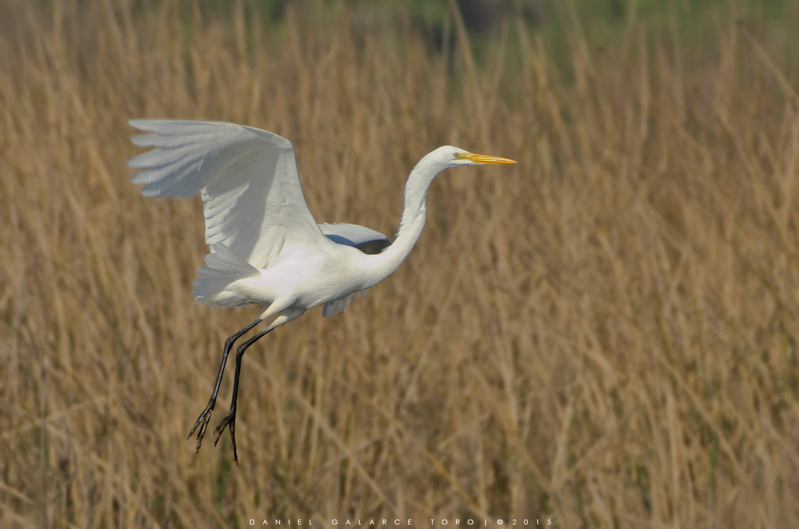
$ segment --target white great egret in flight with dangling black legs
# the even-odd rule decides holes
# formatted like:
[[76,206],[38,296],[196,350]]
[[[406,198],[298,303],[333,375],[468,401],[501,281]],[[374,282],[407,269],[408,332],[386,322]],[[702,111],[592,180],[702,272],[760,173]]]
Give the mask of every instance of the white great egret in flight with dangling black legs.
[[271,324],[240,344],[230,411],[214,433],[219,442],[229,427],[236,453],[236,401],[241,357],[261,336],[324,305],[323,316],[344,311],[358,292],[396,270],[419,240],[427,213],[427,190],[444,169],[459,165],[513,164],[513,160],[445,145],[423,157],[407,177],[400,229],[388,237],[358,225],[317,225],[300,188],[292,143],[244,125],[215,121],[131,120],[153,134],[135,136],[139,147],[154,147],[131,157],[144,169],[133,175],[148,197],[191,197],[201,193],[205,242],[211,253],[194,280],[196,303],[217,307],[257,304],[264,312],[225,340],[217,383],[205,410],[189,432],[200,450],[225,372],[230,349],[260,321]]

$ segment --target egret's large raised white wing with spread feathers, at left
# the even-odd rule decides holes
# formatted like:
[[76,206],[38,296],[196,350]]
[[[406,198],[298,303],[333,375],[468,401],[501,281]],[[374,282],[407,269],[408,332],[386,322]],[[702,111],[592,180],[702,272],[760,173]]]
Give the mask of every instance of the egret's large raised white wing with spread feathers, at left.
[[154,147],[130,158],[149,197],[202,194],[205,242],[267,268],[284,245],[327,244],[313,220],[297,176],[291,141],[265,130],[216,121],[130,121],[152,131],[133,137]]

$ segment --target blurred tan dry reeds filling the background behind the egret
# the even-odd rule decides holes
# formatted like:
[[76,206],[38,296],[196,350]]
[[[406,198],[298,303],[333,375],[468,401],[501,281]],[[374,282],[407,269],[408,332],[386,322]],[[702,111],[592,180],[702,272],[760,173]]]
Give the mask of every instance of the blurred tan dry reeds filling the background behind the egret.
[[[0,526],[799,527],[796,2],[0,20]],[[185,435],[256,309],[191,303],[201,203],[129,184],[130,117],[280,133],[318,221],[388,234],[436,146],[519,165],[441,175],[394,276],[249,350],[234,467]]]

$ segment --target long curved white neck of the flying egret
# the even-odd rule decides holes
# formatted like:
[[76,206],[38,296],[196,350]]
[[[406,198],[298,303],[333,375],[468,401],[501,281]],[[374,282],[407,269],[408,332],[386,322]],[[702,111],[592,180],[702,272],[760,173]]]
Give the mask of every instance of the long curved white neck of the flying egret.
[[[429,156],[429,155],[428,155]],[[400,229],[396,239],[383,253],[365,256],[369,268],[370,280],[368,287],[380,283],[392,274],[400,264],[405,261],[408,253],[419,241],[419,236],[424,229],[427,217],[427,190],[433,179],[446,169],[445,166],[431,162],[429,157],[423,157],[407,177],[405,184],[405,204],[403,205]]]

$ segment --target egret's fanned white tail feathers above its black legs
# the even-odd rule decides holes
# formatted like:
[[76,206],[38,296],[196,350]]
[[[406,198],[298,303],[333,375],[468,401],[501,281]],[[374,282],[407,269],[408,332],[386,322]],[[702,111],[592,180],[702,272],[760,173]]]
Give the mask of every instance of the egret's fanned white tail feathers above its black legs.
[[[200,277],[193,281],[192,294],[197,296],[194,302],[213,305],[228,304],[229,296],[221,296],[221,294],[228,293],[226,292],[227,288],[233,281],[257,276],[260,273],[258,268],[238,257],[221,243],[213,245],[213,253],[205,256],[205,266],[202,266],[197,272],[200,272]],[[229,293],[233,294],[233,292]],[[233,296],[235,295],[233,294]]]

